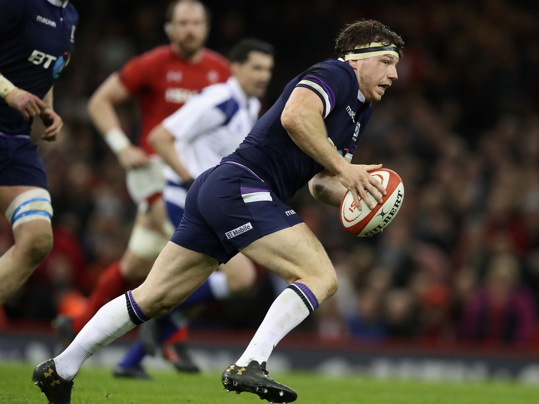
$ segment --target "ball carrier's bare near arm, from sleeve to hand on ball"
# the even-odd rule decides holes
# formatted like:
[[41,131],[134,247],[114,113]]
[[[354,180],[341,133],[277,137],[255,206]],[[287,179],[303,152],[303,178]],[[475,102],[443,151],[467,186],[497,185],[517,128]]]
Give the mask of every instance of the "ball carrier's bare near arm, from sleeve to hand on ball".
[[[374,208],[367,198],[367,191],[377,196],[378,189],[385,195],[384,187],[369,175],[367,166],[347,163],[328,142],[322,113],[320,98],[308,88],[296,87],[281,114],[281,123],[301,150],[333,173],[345,189],[353,193],[356,206],[360,206],[359,194],[369,208]],[[334,203],[335,199],[331,197],[328,201]],[[381,197],[378,203],[382,203]]]

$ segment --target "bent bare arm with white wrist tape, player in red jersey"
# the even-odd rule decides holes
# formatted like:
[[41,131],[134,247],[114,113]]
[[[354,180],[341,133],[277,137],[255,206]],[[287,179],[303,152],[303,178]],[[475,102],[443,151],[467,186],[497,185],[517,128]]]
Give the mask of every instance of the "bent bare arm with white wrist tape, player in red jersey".
[[113,73],[95,90],[88,102],[88,113],[94,126],[118,155],[120,164],[125,169],[149,163],[146,152],[135,147],[123,133],[114,109],[130,97],[131,94],[121,82],[119,74]]

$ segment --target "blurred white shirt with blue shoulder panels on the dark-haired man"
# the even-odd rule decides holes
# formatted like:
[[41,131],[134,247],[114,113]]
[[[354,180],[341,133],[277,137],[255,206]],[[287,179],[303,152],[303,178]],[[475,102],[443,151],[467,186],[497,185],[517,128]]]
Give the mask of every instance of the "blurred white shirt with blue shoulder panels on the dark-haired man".
[[[238,81],[206,87],[163,121],[175,138],[174,146],[192,178],[220,163],[244,140],[260,112],[257,97],[247,97]],[[165,168],[170,182],[182,180],[170,167]]]

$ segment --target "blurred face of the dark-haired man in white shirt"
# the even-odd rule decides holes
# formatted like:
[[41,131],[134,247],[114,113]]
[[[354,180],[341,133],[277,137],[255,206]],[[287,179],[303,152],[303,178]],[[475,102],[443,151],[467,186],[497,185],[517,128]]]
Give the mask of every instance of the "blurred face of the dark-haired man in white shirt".
[[232,75],[248,96],[261,97],[266,93],[273,72],[273,56],[252,51],[244,63],[233,63]]

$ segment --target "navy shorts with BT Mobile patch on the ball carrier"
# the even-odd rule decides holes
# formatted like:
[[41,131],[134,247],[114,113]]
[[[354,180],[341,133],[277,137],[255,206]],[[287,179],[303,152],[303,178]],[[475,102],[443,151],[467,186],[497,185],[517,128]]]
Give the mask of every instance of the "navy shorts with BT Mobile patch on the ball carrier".
[[239,248],[301,222],[251,170],[223,163],[195,180],[170,241],[226,263]]

